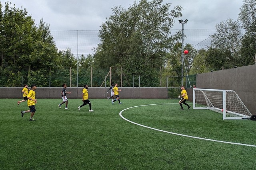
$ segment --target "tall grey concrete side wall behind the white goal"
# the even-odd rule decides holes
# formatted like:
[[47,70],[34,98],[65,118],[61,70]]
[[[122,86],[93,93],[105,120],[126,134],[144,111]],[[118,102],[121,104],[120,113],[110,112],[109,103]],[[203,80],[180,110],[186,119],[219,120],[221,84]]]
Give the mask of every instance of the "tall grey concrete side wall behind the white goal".
[[[248,110],[256,114],[256,64],[197,74],[196,87],[234,90]],[[192,100],[192,89],[188,89]]]

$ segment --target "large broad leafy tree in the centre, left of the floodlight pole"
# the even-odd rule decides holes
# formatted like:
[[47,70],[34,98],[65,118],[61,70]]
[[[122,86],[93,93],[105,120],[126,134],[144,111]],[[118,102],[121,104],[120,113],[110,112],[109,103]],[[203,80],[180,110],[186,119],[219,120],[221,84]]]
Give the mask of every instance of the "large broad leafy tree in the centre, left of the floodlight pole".
[[[95,54],[95,65],[103,70],[122,66],[127,77],[143,76],[143,86],[155,86],[164,57],[177,40],[176,35],[170,36],[174,18],[182,16],[182,7],[170,11],[171,4],[162,3],[141,0],[127,10],[112,8],[113,15],[101,25],[102,43]],[[121,70],[116,69],[115,74],[120,75]]]

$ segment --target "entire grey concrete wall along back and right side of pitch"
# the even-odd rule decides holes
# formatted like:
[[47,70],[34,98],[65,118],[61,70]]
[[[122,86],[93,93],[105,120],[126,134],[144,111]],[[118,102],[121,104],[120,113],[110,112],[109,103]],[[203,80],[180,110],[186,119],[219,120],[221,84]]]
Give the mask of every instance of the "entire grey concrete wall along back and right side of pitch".
[[[196,87],[209,89],[225,89],[234,90],[246,107],[252,114],[256,114],[256,64],[232,68],[228,70],[219,70],[203,74],[197,74]],[[146,88],[146,87],[118,87],[120,98],[140,98],[140,99],[167,99],[167,88]],[[83,87],[67,87],[68,98],[82,98]],[[0,98],[20,98],[22,99],[21,87],[0,87]],[[60,98],[62,87],[38,87],[36,90],[36,98]],[[89,98],[106,98],[107,88],[89,87]],[[188,98],[193,101],[193,90],[188,88]]]

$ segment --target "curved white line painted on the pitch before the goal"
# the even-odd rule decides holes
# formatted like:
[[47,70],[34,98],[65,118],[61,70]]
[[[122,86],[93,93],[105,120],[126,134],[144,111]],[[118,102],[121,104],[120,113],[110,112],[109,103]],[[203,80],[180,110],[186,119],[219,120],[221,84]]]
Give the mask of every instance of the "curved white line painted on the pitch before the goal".
[[[176,104],[176,103],[172,103],[172,104]],[[126,108],[126,109],[123,109],[122,111],[120,111],[120,112],[119,112],[119,115],[120,115],[120,117],[122,117],[124,120],[126,120],[126,121],[128,121],[128,122],[130,122],[130,123],[133,123],[133,124],[135,124],[135,125],[139,125],[139,126],[142,126],[142,127],[146,127],[146,128],[148,128],[148,129],[153,129],[153,130],[156,130],[156,131],[160,131],[160,132],[165,132],[165,133],[170,133],[170,134],[173,134],[173,135],[179,135],[179,136],[190,137],[190,138],[195,138],[195,139],[201,139],[201,140],[206,140],[206,141],[213,141],[213,142],[220,142],[220,143],[228,143],[228,144],[234,144],[234,145],[243,145],[243,146],[247,146],[247,147],[256,147],[256,145],[248,145],[248,144],[243,144],[243,143],[234,143],[234,142],[218,141],[218,140],[213,140],[213,139],[206,139],[206,138],[202,138],[202,137],[194,137],[194,136],[189,136],[189,135],[183,135],[183,134],[180,134],[180,133],[173,133],[173,132],[163,131],[163,130],[156,129],[156,128],[153,128],[153,127],[148,127],[148,126],[145,126],[145,125],[141,125],[141,124],[139,124],[139,123],[135,123],[135,122],[130,121],[130,120],[128,120],[128,119],[126,119],[125,117],[122,116],[122,112],[125,111],[125,110],[131,109],[131,108],[134,108],[134,107],[151,106],[151,105],[160,105],[160,104],[147,104],[147,105],[129,107],[129,108]]]

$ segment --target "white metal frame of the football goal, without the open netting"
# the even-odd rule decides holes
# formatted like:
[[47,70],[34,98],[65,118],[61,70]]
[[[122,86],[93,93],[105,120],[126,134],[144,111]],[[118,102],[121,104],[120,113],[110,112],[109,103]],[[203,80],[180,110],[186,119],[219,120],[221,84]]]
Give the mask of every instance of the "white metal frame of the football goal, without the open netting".
[[[222,92],[222,108],[217,108],[217,107],[196,107],[196,90],[199,91],[211,91],[211,92]],[[246,109],[246,112],[249,113],[249,115],[244,115],[242,113],[236,113],[233,111],[227,111],[226,110],[226,92],[234,92],[233,90],[219,90],[219,89],[203,89],[203,88],[193,88],[193,109],[211,109],[213,111],[216,111],[218,113],[222,113],[223,115],[223,120],[247,120],[250,119],[250,116],[252,115],[250,113],[250,111],[247,109],[247,107],[244,105],[244,103],[242,102],[242,100],[239,98],[239,96],[236,94],[236,92],[234,92],[236,94],[236,100],[238,100],[243,107]],[[206,100],[206,96],[205,100]],[[207,98],[208,102],[210,102],[210,100]],[[229,117],[227,117],[226,115],[229,115]],[[234,115],[234,117],[230,116],[230,115]]]

